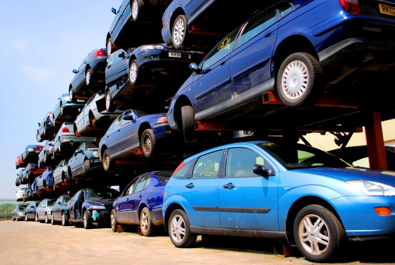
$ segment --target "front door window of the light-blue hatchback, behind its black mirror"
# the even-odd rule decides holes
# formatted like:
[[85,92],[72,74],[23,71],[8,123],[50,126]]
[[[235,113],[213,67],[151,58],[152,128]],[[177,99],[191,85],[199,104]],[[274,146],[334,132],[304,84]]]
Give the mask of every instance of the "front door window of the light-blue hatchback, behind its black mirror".
[[273,167],[260,155],[247,148],[230,148],[226,159],[226,177],[257,177],[254,165],[262,165],[274,172]]

